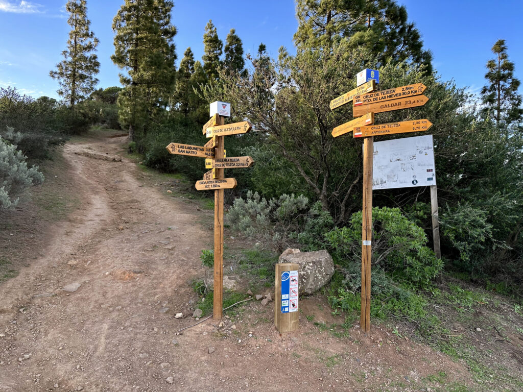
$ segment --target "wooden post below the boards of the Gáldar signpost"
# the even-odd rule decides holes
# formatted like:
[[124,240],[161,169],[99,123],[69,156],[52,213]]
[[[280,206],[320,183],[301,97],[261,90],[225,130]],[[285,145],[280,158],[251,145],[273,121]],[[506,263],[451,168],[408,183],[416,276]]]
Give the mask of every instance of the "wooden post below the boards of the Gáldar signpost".
[[361,316],[360,329],[370,332],[370,266],[372,262],[372,159],[374,137],[363,140],[363,210],[361,230]]

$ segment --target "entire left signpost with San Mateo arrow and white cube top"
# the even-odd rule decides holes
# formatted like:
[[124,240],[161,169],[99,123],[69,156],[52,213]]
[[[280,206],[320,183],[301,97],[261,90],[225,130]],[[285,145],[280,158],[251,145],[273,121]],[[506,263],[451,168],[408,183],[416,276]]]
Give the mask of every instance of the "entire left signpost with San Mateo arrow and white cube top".
[[189,155],[206,158],[206,168],[212,169],[203,175],[203,180],[196,182],[197,190],[214,191],[214,297],[213,318],[222,318],[223,305],[223,191],[236,187],[235,178],[224,178],[225,168],[247,168],[254,164],[253,158],[225,158],[224,136],[247,133],[252,129],[248,121],[225,125],[225,117],[231,117],[231,104],[212,102],[211,118],[203,125],[202,132],[210,140],[203,146],[170,143],[166,148],[171,154]]

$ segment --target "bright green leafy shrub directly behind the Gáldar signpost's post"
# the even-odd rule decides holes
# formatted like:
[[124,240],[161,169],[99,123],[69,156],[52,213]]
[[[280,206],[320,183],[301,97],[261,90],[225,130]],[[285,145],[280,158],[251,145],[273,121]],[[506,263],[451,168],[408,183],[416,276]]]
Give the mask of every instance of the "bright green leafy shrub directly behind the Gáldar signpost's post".
[[[441,260],[429,249],[422,228],[403,216],[399,209],[372,209],[372,263],[397,281],[415,287],[430,285],[442,269]],[[334,261],[348,267],[361,260],[361,212],[354,213],[348,226],[325,233]]]

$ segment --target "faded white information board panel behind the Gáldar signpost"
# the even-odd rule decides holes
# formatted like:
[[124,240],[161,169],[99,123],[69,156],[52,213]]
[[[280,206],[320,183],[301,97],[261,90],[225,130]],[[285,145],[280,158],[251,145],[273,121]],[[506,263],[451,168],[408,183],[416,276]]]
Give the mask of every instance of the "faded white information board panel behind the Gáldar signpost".
[[372,189],[436,185],[432,135],[374,143]]

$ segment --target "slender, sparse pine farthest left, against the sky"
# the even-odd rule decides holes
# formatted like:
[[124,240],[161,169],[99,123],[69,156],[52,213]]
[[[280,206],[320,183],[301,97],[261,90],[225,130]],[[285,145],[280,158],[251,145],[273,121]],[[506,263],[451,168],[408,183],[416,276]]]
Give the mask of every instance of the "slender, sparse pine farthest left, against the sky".
[[71,26],[67,49],[62,52],[64,60],[56,64],[56,71],[50,71],[49,75],[58,79],[58,94],[72,108],[94,90],[100,63],[94,53],[98,39],[89,30],[86,0],[69,0],[65,9],[69,13],[67,24]]

